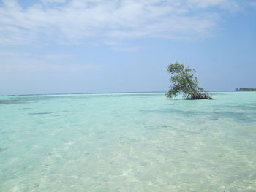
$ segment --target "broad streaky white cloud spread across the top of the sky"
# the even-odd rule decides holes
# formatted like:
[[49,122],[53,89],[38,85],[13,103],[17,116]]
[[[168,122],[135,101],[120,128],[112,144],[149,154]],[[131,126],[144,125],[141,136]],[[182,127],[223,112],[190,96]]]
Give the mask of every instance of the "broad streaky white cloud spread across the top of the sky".
[[211,34],[222,11],[239,7],[236,0],[41,1],[26,9],[15,0],[2,1],[0,45],[89,37],[201,38]]

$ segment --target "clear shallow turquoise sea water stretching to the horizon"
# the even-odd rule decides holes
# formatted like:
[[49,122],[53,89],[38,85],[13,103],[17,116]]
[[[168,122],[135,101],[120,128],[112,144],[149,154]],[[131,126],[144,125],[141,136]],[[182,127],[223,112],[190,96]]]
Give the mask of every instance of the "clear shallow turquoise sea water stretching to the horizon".
[[256,92],[0,96],[0,191],[256,191]]

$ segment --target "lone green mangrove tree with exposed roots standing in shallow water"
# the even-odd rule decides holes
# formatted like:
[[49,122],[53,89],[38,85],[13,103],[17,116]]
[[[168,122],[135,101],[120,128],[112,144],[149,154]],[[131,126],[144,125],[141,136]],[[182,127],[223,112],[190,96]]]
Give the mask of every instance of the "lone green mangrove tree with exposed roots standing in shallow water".
[[167,92],[167,97],[173,98],[179,93],[184,93],[184,99],[212,99],[203,88],[198,86],[197,77],[194,77],[195,69],[189,69],[184,64],[170,64],[167,68],[170,72],[170,90]]

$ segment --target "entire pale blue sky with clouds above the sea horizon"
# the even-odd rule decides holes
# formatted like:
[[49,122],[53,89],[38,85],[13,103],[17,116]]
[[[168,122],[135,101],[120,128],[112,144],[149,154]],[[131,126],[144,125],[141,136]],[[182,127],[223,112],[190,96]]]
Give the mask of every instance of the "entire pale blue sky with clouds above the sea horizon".
[[0,95],[256,88],[256,0],[0,0]]

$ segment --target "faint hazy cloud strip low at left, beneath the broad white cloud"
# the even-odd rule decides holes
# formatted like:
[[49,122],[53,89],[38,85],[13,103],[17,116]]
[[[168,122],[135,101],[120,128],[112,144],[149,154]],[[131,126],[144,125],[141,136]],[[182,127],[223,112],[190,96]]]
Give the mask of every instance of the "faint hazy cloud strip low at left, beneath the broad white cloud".
[[1,72],[80,72],[98,69],[97,64],[83,64],[74,55],[0,52]]

